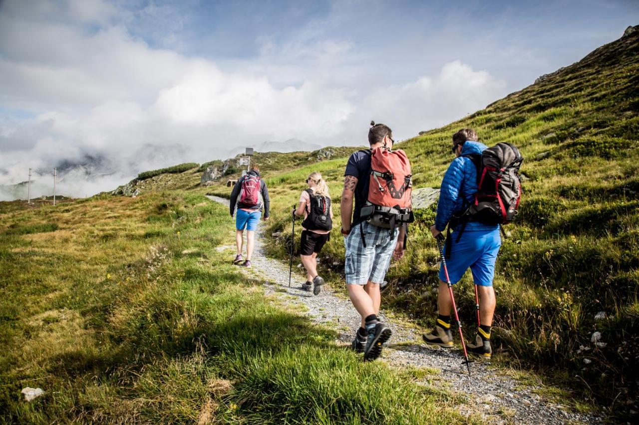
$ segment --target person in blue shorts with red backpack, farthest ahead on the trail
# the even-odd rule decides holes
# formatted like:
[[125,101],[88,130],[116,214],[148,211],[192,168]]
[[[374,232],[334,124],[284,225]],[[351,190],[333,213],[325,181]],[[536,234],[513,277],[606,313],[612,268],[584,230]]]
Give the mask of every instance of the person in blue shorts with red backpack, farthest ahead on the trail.
[[[255,248],[255,230],[258,228],[259,218],[262,215],[262,207],[264,207],[262,220],[268,220],[270,207],[268,189],[265,181],[259,177],[258,165],[252,165],[250,171],[238,179],[231,191],[231,217],[237,209],[235,214],[237,255],[233,260],[234,264],[250,267],[250,258]],[[244,229],[246,229],[246,260],[242,262]]]

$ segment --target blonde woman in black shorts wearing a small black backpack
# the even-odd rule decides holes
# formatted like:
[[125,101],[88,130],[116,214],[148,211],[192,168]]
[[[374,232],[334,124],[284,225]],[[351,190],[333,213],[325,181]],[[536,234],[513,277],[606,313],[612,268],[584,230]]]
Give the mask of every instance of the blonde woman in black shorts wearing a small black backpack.
[[302,284],[302,289],[312,290],[314,295],[318,295],[324,280],[317,272],[317,256],[330,238],[330,230],[333,228],[333,206],[330,203],[328,185],[319,172],[309,174],[306,184],[309,188],[302,191],[300,205],[293,210],[293,215],[304,215],[300,258],[306,269],[306,282]]

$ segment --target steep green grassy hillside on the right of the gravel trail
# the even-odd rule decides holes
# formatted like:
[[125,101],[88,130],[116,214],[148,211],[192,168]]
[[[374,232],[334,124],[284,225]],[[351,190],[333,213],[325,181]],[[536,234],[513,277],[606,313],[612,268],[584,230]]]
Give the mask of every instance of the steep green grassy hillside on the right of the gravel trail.
[[[636,408],[639,375],[639,31],[459,121],[401,143],[416,187],[438,187],[453,159],[452,134],[472,127],[488,145],[511,142],[525,156],[520,214],[498,261],[497,358],[574,380],[597,401]],[[392,127],[392,123],[388,123]],[[362,142],[366,141],[365,130]],[[296,170],[266,172],[274,255],[286,257],[290,205],[309,172],[320,170],[339,205],[347,156]],[[213,192],[227,195],[226,188]],[[336,215],[335,227],[339,228]],[[420,211],[406,258],[391,267],[386,308],[430,325],[437,254]],[[343,258],[339,232],[324,264]],[[326,274],[339,280],[340,267]],[[472,322],[470,274],[457,288]],[[600,311],[606,318],[596,320]],[[470,325],[469,325],[470,326]],[[468,331],[472,331],[468,329]],[[594,332],[601,339],[591,341]],[[583,382],[587,385],[581,385]]]

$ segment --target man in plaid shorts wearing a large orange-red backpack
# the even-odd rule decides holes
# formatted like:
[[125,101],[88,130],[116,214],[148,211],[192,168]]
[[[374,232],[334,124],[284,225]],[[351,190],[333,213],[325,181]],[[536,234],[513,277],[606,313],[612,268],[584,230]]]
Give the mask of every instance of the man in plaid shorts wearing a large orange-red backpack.
[[[402,220],[407,220],[410,213],[409,208],[400,211],[383,204],[386,200],[392,205],[408,202],[410,206],[412,184],[406,155],[403,151],[390,150],[394,141],[388,126],[371,122],[368,141],[370,149],[353,153],[348,159],[340,212],[346,246],[346,287],[362,317],[351,347],[355,352],[364,352],[364,359],[373,360],[379,357],[383,343],[392,334],[378,318],[380,284],[391,257],[404,256],[406,228]],[[376,170],[373,163],[385,169]],[[394,169],[389,169],[389,164]]]

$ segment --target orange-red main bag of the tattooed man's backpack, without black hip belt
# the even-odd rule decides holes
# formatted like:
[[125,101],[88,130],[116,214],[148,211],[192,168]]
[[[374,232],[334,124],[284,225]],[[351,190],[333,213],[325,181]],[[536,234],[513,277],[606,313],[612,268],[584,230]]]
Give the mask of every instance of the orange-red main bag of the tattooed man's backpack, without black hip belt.
[[410,208],[411,169],[406,153],[378,147],[371,153],[368,202],[381,207]]

